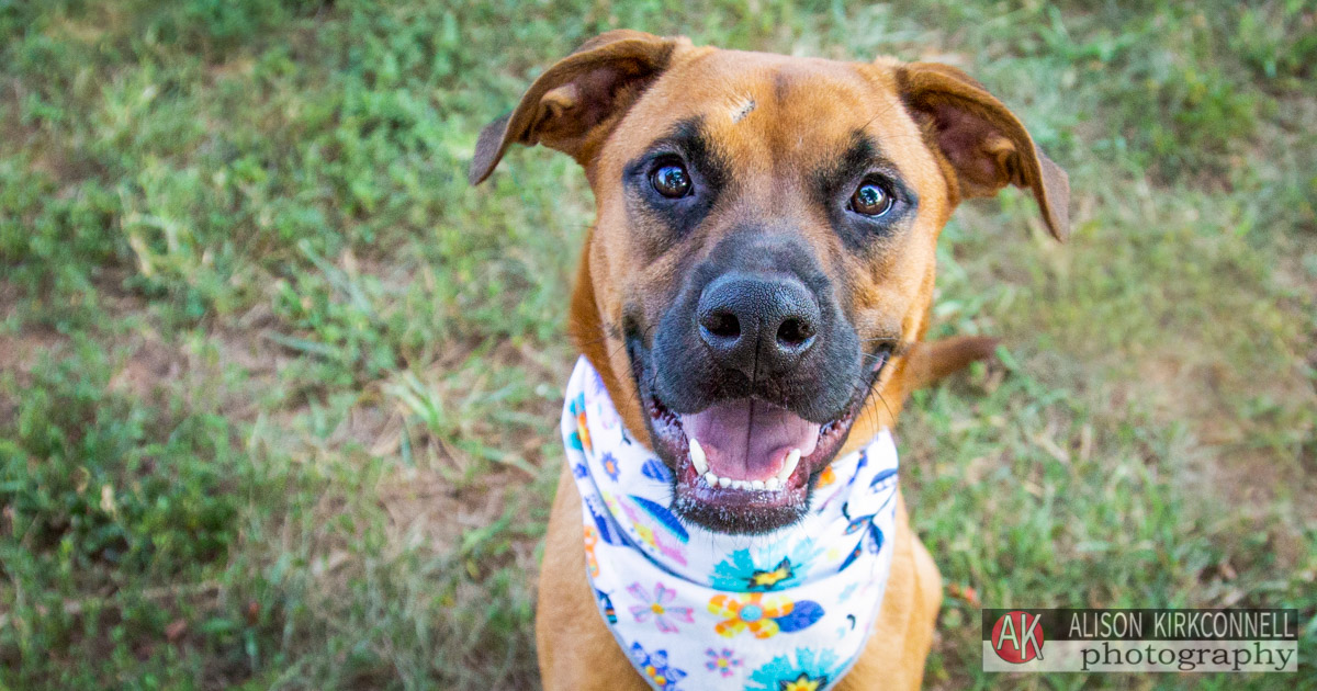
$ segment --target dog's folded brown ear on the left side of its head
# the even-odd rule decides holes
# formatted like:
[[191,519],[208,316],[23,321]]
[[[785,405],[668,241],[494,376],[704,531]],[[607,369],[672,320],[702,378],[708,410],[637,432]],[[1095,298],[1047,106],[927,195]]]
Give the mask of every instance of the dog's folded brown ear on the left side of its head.
[[618,29],[549,67],[511,113],[475,142],[468,178],[479,184],[515,143],[543,143],[585,165],[636,97],[668,66],[677,39]]

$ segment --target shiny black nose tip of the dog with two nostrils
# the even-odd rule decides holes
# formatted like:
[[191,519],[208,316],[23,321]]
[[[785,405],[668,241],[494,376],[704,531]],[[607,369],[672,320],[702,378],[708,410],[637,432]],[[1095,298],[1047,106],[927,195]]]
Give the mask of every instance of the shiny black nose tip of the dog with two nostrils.
[[699,337],[714,359],[751,380],[794,367],[814,346],[820,319],[809,288],[781,275],[723,274],[695,305]]

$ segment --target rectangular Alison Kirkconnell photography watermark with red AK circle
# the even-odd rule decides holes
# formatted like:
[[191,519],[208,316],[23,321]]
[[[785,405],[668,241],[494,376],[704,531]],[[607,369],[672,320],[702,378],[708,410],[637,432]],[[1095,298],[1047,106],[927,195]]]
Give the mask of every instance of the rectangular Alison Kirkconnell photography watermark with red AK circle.
[[[1297,609],[984,609],[984,671],[1297,671]],[[1047,654],[1043,654],[1046,649]]]

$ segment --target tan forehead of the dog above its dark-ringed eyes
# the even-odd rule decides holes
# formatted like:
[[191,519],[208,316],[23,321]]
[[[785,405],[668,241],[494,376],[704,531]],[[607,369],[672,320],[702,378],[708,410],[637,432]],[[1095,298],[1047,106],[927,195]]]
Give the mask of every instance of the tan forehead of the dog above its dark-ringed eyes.
[[918,134],[882,64],[691,49],[645,92],[610,142],[640,155],[680,122],[698,121],[736,168],[806,165],[835,155],[857,132],[880,142]]

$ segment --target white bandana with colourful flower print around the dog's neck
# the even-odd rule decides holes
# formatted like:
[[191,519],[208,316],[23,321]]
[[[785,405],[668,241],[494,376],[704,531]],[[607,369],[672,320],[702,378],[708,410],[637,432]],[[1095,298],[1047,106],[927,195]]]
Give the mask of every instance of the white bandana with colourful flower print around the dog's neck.
[[649,686],[823,691],[849,670],[892,569],[897,450],[886,429],[832,461],[799,524],[765,536],[682,523],[669,508],[672,471],[627,434],[583,357],[562,440],[599,613]]

